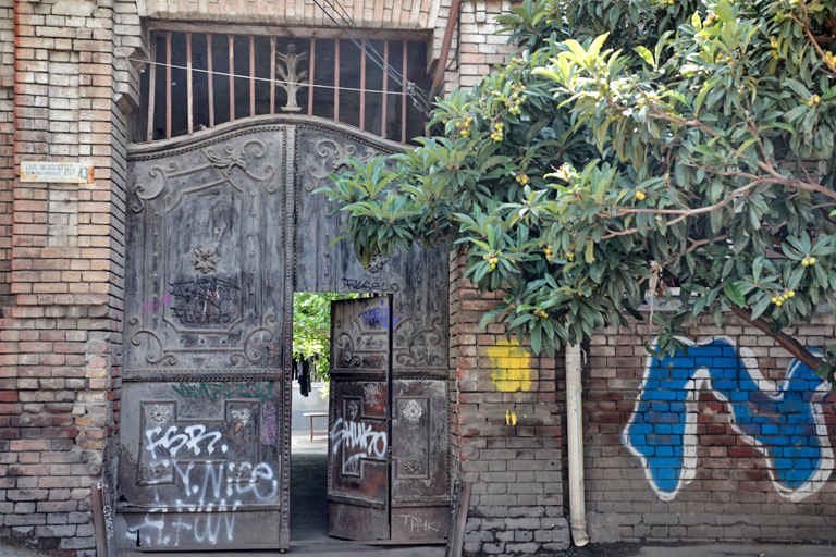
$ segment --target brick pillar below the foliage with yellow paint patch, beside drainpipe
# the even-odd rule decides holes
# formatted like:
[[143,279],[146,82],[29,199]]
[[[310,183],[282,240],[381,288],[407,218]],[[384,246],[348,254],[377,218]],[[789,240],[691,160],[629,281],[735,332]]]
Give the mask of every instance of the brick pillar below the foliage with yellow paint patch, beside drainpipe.
[[472,482],[465,549],[530,555],[568,547],[561,465],[558,362],[479,329],[499,295],[463,278],[451,257],[451,446],[454,473]]

